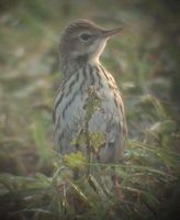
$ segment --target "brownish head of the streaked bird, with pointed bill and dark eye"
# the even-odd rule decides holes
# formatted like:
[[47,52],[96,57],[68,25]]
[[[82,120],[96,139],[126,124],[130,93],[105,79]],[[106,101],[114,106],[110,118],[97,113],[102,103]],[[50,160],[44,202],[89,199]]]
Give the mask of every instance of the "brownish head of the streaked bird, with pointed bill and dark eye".
[[70,23],[60,37],[60,57],[88,61],[99,61],[105,47],[106,40],[122,31],[122,28],[105,30],[88,20]]

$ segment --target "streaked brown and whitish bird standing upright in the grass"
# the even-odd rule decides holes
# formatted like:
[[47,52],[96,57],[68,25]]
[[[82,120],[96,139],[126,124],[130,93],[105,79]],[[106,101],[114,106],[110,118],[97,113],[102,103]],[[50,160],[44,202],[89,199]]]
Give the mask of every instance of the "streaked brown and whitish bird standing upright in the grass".
[[108,40],[121,32],[122,28],[109,30],[80,19],[67,25],[60,35],[63,81],[54,99],[53,121],[55,145],[61,155],[85,153],[86,146],[77,147],[74,140],[85,132],[90,96],[92,101],[95,97],[100,101],[91,111],[87,130],[104,135],[103,143],[91,152],[93,161],[109,164],[124,157],[127,127],[123,98],[112,74],[100,62]]

